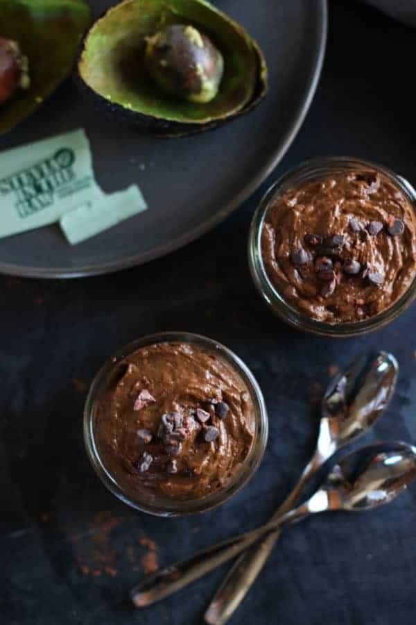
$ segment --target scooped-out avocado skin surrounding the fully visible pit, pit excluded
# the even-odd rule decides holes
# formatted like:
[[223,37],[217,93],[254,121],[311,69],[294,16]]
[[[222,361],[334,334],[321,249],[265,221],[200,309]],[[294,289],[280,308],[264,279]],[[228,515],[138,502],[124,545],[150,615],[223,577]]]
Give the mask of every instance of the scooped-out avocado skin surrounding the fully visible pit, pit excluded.
[[[224,59],[218,94],[209,102],[167,95],[145,63],[146,42],[166,26],[189,24]],[[258,44],[206,0],[123,0],[92,26],[78,61],[78,83],[101,108],[142,131],[186,135],[246,113],[267,89]]]

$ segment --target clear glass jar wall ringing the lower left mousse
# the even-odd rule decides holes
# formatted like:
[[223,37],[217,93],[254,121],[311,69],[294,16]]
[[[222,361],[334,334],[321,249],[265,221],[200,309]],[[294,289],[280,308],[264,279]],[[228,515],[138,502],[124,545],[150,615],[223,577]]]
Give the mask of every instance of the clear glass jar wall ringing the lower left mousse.
[[[94,436],[94,425],[96,420],[95,408],[96,401],[101,396],[101,393],[107,389],[112,381],[117,376],[118,363],[130,356],[130,354],[137,351],[142,347],[149,347],[150,345],[158,343],[189,343],[193,344],[202,351],[210,354],[214,354],[218,358],[222,359],[228,366],[232,367],[236,374],[241,378],[245,387],[250,394],[250,398],[253,406],[253,423],[254,434],[253,441],[250,447],[248,456],[242,462],[241,466],[236,469],[235,474],[232,476],[232,480],[225,485],[222,489],[216,490],[205,497],[199,499],[191,499],[187,501],[173,500],[164,497],[146,497],[146,492],[133,492],[126,490],[120,483],[117,482],[113,474],[109,472],[103,462],[98,451]],[[84,441],[87,449],[87,456],[92,463],[96,474],[101,481],[107,486],[107,488],[119,497],[121,501],[127,503],[128,506],[141,510],[142,512],[148,512],[152,515],[161,517],[175,517],[182,515],[190,515],[197,512],[205,512],[205,510],[211,510],[219,506],[220,503],[224,503],[227,499],[232,497],[238,492],[248,481],[252,478],[254,472],[256,472],[263,453],[266,449],[266,443],[268,439],[268,416],[266,410],[266,403],[263,398],[263,394],[260,387],[254,378],[250,369],[243,363],[242,360],[231,350],[224,347],[224,345],[206,338],[204,336],[186,333],[186,332],[164,332],[154,335],[148,335],[141,339],[138,339],[123,349],[119,349],[113,356],[111,356],[101,367],[100,371],[96,374],[94,381],[89,389],[87,400],[85,402],[84,409]]]

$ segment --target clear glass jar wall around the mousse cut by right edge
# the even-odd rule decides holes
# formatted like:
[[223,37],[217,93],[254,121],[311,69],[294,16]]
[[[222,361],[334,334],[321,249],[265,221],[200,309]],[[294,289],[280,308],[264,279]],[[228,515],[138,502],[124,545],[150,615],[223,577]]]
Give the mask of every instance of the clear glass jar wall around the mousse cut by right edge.
[[366,169],[374,169],[374,171],[378,171],[383,174],[383,176],[389,178],[390,181],[404,193],[405,197],[413,204],[416,210],[416,191],[404,178],[391,172],[390,169],[386,167],[376,165],[367,160],[337,156],[333,158],[315,158],[298,165],[295,169],[291,169],[291,171],[281,176],[281,178],[268,189],[256,213],[254,213],[248,238],[248,259],[254,285],[256,285],[261,297],[268,303],[272,311],[286,323],[299,330],[316,335],[338,338],[367,334],[383,328],[392,322],[393,319],[396,319],[400,313],[410,306],[410,303],[412,303],[413,299],[416,297],[415,278],[408,290],[392,304],[390,308],[386,308],[381,313],[363,321],[330,324],[313,319],[305,313],[301,313],[300,310],[293,308],[293,306],[286,302],[281,294],[279,294],[268,277],[261,253],[261,233],[268,209],[275,201],[276,197],[286,192],[286,190],[296,188],[298,185],[307,181],[313,179],[318,180],[325,176],[333,175],[336,172],[345,171],[345,169],[358,169],[363,167]]

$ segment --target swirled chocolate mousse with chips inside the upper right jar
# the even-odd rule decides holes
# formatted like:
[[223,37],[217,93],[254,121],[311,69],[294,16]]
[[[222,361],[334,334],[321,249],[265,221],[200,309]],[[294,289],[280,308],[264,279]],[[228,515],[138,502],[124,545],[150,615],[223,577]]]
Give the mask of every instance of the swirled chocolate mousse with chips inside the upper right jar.
[[261,232],[270,281],[291,306],[327,323],[392,306],[416,274],[415,211],[390,178],[336,170],[273,201]]

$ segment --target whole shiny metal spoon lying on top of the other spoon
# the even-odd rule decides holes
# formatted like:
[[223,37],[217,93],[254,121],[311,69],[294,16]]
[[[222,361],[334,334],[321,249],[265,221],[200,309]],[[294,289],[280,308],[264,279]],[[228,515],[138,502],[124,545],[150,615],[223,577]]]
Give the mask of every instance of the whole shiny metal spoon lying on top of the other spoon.
[[416,448],[406,443],[373,444],[346,456],[308,501],[254,531],[203,549],[177,565],[146,578],[132,590],[137,608],[144,608],[182,588],[214,567],[234,558],[262,537],[317,512],[358,512],[389,503],[416,478]]

